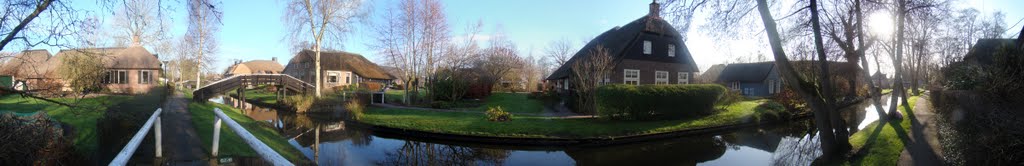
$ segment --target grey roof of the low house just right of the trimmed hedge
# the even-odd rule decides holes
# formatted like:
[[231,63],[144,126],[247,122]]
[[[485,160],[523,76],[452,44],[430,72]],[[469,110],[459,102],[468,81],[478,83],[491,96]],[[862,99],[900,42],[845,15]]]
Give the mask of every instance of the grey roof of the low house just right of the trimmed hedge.
[[722,69],[719,75],[719,82],[758,82],[768,78],[768,74],[775,68],[775,63],[749,63],[730,64]]

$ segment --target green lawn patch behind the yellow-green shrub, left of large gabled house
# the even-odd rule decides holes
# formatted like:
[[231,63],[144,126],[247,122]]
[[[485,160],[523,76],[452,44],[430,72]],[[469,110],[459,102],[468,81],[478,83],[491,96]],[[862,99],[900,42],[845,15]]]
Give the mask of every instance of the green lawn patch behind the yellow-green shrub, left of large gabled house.
[[544,111],[540,100],[526,98],[526,93],[495,92],[487,96],[483,106],[472,111],[485,112],[487,108],[502,107],[506,112],[538,114]]

